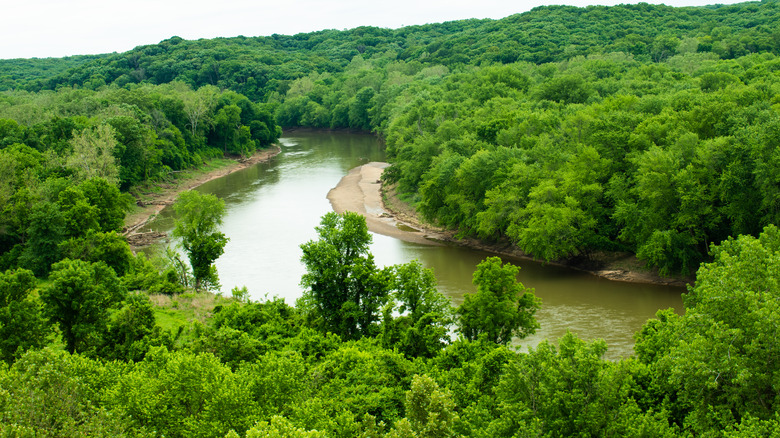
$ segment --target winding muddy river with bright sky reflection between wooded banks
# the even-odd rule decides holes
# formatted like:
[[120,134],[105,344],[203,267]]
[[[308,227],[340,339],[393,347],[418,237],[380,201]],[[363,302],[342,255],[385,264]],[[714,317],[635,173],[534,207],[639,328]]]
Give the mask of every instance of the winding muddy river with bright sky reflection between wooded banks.
[[[304,267],[300,245],[316,238],[314,227],[332,211],[328,191],[347,172],[369,161],[384,161],[371,135],[295,131],[280,140],[281,153],[267,163],[232,173],[198,188],[225,200],[222,231],[230,238],[217,262],[222,290],[247,286],[253,300],[278,296],[294,304],[301,296]],[[170,231],[166,208],[147,230]],[[439,290],[453,305],[474,291],[471,276],[490,253],[460,246],[428,246],[374,234],[371,251],[378,266],[419,260],[432,268]],[[555,341],[567,330],[607,341],[607,357],[632,354],[633,334],[658,309],[682,311],[683,288],[605,280],[571,269],[504,258],[521,267],[518,279],[542,300],[541,328],[518,342],[533,347]]]

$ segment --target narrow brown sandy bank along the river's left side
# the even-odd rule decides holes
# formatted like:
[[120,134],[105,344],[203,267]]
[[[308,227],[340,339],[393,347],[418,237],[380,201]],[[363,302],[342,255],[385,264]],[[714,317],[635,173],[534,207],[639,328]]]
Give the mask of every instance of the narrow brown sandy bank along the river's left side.
[[279,154],[279,152],[281,152],[281,149],[278,146],[272,146],[269,149],[257,151],[249,158],[236,160],[227,166],[214,169],[213,171],[204,172],[191,177],[184,177],[175,184],[161,184],[160,187],[162,189],[160,191],[144,194],[143,200],[136,200],[136,204],[139,208],[125,217],[123,234],[131,247],[148,245],[151,241],[164,237],[157,234],[139,233],[138,230],[146,225],[152,218],[160,214],[160,211],[162,211],[165,206],[173,204],[176,197],[179,196],[179,193],[192,190],[208,181],[221,178],[241,169],[246,169],[257,163],[268,161]]

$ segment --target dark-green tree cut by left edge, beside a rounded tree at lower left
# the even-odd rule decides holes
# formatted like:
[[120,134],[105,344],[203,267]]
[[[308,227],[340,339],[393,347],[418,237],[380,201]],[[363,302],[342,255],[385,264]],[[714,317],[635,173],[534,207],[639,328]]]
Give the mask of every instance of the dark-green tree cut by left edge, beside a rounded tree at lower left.
[[32,294],[35,283],[26,269],[0,272],[0,360],[10,362],[43,346],[47,325],[41,303]]

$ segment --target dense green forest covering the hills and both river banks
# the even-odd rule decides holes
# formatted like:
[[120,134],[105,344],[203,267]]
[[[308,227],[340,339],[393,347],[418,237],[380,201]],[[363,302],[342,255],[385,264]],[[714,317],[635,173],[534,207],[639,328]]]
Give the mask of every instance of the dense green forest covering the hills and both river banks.
[[[780,435],[778,21],[550,6],[0,60],[0,436]],[[516,267],[484,260],[452,308],[352,214],[301,245],[298,302],[256,301],[219,290],[224,206],[196,195],[189,260],[133,254],[139,193],[282,127],[376,133],[384,184],[460,237],[695,274],[685,309],[618,361],[517,351],[544,303]]]

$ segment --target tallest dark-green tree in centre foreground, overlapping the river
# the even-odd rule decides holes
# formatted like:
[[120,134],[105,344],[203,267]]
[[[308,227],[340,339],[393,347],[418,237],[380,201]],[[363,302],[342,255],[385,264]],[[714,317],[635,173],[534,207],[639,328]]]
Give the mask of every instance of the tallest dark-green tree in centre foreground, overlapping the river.
[[368,252],[366,219],[353,212],[328,213],[316,227],[319,240],[301,245],[307,288],[301,304],[310,320],[345,339],[376,334],[374,325],[388,295],[384,274]]

